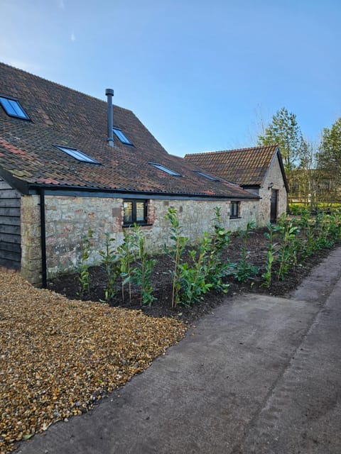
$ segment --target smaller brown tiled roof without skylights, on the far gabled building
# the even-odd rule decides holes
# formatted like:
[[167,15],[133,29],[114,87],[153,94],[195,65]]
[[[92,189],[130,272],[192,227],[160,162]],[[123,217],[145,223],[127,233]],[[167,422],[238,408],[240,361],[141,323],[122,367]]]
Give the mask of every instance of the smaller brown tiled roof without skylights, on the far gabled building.
[[[185,155],[185,160],[241,186],[258,186],[263,182],[277,150],[278,145],[266,145],[239,150],[210,151]],[[280,155],[279,159],[281,162]]]

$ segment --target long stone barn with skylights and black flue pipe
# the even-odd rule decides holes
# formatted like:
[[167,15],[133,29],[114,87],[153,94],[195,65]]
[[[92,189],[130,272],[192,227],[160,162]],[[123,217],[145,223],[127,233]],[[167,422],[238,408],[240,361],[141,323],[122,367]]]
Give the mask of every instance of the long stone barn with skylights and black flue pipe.
[[215,206],[231,231],[258,225],[259,194],[169,155],[132,111],[0,64],[0,267],[45,285],[75,270],[91,228],[119,244],[138,223],[150,250],[167,243],[168,207],[193,241]]

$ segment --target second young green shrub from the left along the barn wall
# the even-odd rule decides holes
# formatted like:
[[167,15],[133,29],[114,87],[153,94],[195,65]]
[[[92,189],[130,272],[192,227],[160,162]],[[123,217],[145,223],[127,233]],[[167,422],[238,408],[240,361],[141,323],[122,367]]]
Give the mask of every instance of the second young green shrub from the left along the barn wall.
[[117,293],[116,283],[119,275],[118,255],[113,247],[115,238],[110,238],[109,233],[105,235],[105,249],[99,251],[102,257],[101,265],[104,269],[107,284],[104,288],[104,301],[109,302]]

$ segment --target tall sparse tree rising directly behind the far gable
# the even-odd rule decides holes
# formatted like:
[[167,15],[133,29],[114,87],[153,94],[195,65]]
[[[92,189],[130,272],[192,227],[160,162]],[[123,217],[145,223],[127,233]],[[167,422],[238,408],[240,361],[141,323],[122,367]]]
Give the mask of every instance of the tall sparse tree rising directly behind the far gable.
[[296,115],[282,107],[272,117],[264,134],[259,135],[258,145],[277,144],[281,150],[284,167],[290,172],[298,165],[302,141],[301,128],[296,121]]

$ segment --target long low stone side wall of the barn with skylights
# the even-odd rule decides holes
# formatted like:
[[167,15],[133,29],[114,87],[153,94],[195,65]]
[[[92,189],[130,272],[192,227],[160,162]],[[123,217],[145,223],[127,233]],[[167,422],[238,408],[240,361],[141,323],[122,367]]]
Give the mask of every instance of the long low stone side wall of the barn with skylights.
[[[147,245],[151,252],[162,250],[169,241],[170,226],[164,219],[168,207],[178,211],[183,235],[195,241],[204,231],[212,231],[215,206],[221,207],[222,223],[231,231],[245,228],[258,219],[259,201],[241,201],[240,218],[229,218],[229,201],[148,200]],[[40,206],[38,196],[23,196],[21,209],[22,274],[33,284],[41,284]],[[92,229],[90,263],[99,263],[104,249],[104,233],[119,245],[123,239],[123,199],[100,197],[45,196],[46,256],[48,278],[77,270],[82,237]]]

